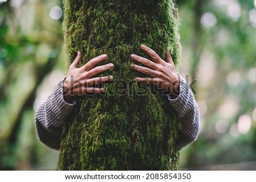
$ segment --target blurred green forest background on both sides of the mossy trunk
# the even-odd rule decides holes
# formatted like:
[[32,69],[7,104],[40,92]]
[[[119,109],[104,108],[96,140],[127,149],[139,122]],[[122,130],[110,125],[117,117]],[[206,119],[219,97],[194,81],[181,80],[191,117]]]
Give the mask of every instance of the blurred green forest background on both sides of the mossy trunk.
[[[201,117],[178,170],[256,170],[256,1],[176,2]],[[34,117],[67,70],[62,22],[61,0],[0,0],[0,170],[55,170]]]

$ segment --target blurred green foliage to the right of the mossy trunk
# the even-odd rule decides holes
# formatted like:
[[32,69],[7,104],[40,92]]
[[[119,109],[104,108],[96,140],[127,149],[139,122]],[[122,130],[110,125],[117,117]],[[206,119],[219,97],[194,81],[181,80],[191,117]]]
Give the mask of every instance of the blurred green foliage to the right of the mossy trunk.
[[[200,136],[181,151],[181,158],[185,159],[181,159],[184,162],[180,163],[180,168],[254,170],[256,84],[252,78],[256,75],[251,70],[255,69],[256,32],[250,21],[250,11],[255,10],[254,1],[201,2],[199,7],[187,2],[179,6],[183,55],[189,53],[184,62],[191,58],[190,55],[199,54],[199,64],[189,70],[196,73],[199,93],[196,100],[201,112]],[[230,11],[234,6],[236,11]],[[201,12],[199,18],[198,12]],[[207,27],[201,22],[205,12],[216,17],[215,26]],[[237,19],[232,15],[238,15]],[[211,73],[212,67],[214,73]],[[238,78],[233,73],[237,73]],[[205,79],[210,74],[210,79]],[[230,80],[238,82],[230,84]],[[230,100],[232,104],[227,104]],[[226,116],[226,113],[232,114]],[[251,119],[248,133],[241,132],[246,125],[246,120],[240,118],[242,115]],[[243,166],[245,162],[250,162],[251,166],[248,163]]]

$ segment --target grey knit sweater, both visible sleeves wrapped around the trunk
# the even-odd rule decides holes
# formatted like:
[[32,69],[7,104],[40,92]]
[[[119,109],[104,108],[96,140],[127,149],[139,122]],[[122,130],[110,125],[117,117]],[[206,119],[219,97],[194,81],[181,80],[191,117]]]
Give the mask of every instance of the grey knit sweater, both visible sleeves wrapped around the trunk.
[[[193,92],[180,77],[180,94],[170,100],[170,109],[174,109],[176,117],[181,123],[179,149],[196,140],[200,129],[200,117]],[[69,104],[63,97],[63,80],[56,84],[48,99],[36,111],[35,124],[38,137],[48,147],[59,150],[61,127],[69,113],[72,112],[76,102]]]

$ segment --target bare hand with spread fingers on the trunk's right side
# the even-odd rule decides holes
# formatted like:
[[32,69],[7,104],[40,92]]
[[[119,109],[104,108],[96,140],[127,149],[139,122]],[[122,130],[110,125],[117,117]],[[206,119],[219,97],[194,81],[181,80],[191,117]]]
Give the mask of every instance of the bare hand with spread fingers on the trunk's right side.
[[139,83],[152,83],[164,91],[170,92],[172,96],[178,96],[180,91],[180,78],[177,75],[174,62],[170,54],[170,49],[166,52],[166,61],[158,56],[154,50],[148,48],[146,45],[141,45],[141,49],[146,52],[152,61],[131,54],[130,58],[140,64],[147,66],[131,65],[135,71],[150,75],[150,78],[136,78]]

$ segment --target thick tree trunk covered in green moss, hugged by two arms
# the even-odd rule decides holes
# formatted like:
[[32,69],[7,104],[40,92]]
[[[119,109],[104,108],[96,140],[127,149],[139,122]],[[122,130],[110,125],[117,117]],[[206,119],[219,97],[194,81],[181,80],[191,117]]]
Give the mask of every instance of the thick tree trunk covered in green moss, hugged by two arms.
[[[146,44],[164,58],[180,58],[177,11],[170,0],[64,0],[68,64],[108,54],[115,81],[105,95],[78,98],[63,130],[58,170],[175,170],[179,127],[165,93],[135,83],[130,53],[144,57]],[[80,66],[81,66],[80,65]],[[98,85],[101,87],[102,85]]]

